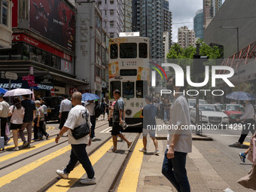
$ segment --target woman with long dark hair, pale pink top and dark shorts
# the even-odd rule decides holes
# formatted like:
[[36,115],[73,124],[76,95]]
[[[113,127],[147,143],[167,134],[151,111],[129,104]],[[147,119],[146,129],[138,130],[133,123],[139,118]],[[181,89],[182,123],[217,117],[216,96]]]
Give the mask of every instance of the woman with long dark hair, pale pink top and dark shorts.
[[18,132],[23,125],[23,117],[25,109],[21,106],[21,99],[18,96],[14,97],[14,105],[9,108],[8,117],[11,117],[11,130],[14,136],[14,151],[19,151],[18,148]]

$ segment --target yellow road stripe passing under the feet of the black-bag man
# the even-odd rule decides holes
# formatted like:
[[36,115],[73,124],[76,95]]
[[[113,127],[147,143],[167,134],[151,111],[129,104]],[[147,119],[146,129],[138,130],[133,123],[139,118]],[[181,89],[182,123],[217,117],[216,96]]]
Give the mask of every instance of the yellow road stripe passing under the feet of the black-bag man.
[[[112,140],[109,140],[104,145],[102,145],[101,148],[99,148],[96,152],[94,152],[89,158],[90,163],[92,163],[92,166],[100,160],[104,154],[107,153],[109,148],[113,145]],[[69,190],[70,187],[72,187],[73,184],[75,184],[76,181],[78,181],[83,175],[85,174],[84,168],[81,164],[79,166],[75,167],[75,169],[69,173],[69,179],[60,179],[56,184],[54,184],[52,187],[50,187],[47,192],[66,192]],[[0,178],[1,179],[1,178]],[[1,181],[1,180],[0,180]]]

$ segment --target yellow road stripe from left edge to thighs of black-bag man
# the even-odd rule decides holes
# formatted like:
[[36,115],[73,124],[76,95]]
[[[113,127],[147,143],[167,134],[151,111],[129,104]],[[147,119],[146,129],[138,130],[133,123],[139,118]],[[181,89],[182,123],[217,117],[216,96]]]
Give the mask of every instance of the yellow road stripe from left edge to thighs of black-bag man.
[[11,181],[14,181],[15,179],[19,178],[22,175],[25,175],[27,172],[30,172],[38,166],[43,165],[44,163],[47,163],[48,161],[58,157],[61,154],[65,154],[67,151],[71,150],[71,145],[68,145],[64,148],[59,149],[58,151],[55,151],[51,154],[48,154],[44,157],[41,157],[38,160],[35,160],[32,163],[27,164],[26,166],[21,167],[20,169],[15,170],[14,172],[10,172],[8,175],[2,176],[0,178],[0,187],[4,186],[5,184],[11,183]]

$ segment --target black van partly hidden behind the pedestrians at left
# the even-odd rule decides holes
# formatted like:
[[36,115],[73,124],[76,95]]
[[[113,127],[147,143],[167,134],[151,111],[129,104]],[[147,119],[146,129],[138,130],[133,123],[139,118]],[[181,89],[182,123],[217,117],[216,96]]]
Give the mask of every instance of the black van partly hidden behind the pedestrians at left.
[[59,107],[62,101],[62,96],[47,96],[42,98],[47,106],[47,117],[46,121],[49,120],[59,120]]

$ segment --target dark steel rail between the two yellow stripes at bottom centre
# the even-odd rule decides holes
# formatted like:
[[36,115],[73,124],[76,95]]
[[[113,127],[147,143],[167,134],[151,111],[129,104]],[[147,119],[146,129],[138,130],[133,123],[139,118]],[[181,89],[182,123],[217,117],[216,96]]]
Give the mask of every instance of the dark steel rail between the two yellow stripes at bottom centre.
[[112,182],[111,187],[109,188],[108,192],[115,192],[115,191],[117,191],[117,187],[119,186],[120,180],[121,180],[121,178],[123,176],[123,172],[125,171],[126,166],[129,163],[130,158],[132,157],[134,148],[135,148],[135,146],[136,146],[136,144],[137,144],[137,142],[139,140],[139,136],[140,136],[140,133],[138,133],[138,135],[136,136],[136,139],[134,140],[133,145],[131,146],[128,154],[126,154],[126,157],[123,160],[123,163],[120,166],[120,169],[118,170],[117,175],[115,176],[114,181]]

